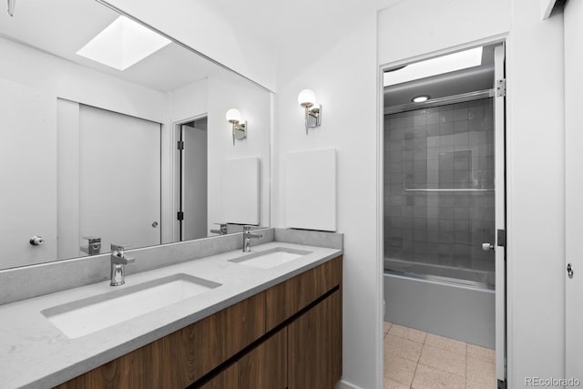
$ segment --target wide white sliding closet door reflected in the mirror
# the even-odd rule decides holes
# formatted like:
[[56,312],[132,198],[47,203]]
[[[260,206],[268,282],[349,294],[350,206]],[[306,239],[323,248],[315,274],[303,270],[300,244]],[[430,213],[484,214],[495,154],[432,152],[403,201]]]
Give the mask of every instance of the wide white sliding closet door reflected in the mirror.
[[100,237],[101,252],[159,244],[159,123],[81,105],[79,203],[80,236]]

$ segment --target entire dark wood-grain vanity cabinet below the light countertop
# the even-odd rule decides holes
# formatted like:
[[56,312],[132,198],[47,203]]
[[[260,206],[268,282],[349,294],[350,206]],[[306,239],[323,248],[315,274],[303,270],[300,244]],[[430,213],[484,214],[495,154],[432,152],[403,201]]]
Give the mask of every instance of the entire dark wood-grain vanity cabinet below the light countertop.
[[332,389],[342,319],[341,256],[56,387]]

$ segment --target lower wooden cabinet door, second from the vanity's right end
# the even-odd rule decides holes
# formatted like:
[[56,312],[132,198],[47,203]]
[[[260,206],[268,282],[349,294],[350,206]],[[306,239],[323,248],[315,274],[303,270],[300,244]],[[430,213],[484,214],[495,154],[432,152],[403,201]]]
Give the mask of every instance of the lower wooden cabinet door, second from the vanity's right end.
[[287,328],[283,328],[245,354],[239,361],[239,388],[285,389],[288,375],[287,343]]

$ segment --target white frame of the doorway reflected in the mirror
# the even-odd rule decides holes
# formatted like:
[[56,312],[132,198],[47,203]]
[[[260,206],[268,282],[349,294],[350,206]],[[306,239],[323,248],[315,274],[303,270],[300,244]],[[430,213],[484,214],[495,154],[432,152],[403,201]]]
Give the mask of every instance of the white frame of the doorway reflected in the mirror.
[[180,131],[182,125],[201,118],[209,118],[207,112],[195,115],[189,118],[183,118],[172,122],[172,130],[170,131],[170,239],[173,242],[180,240],[180,223],[178,222],[177,214],[180,210],[180,194],[181,194],[181,177],[180,177],[180,153],[178,149],[178,141],[180,139]]

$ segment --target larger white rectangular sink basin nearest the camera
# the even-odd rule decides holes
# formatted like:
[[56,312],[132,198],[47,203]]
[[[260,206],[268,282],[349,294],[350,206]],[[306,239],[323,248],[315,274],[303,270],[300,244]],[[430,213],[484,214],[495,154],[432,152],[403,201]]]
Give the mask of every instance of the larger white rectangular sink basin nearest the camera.
[[188,274],[174,274],[128,288],[48,308],[41,313],[70,339],[96,333],[220,286]]

